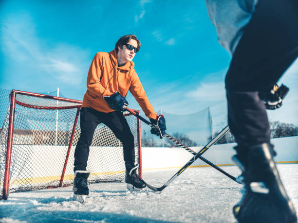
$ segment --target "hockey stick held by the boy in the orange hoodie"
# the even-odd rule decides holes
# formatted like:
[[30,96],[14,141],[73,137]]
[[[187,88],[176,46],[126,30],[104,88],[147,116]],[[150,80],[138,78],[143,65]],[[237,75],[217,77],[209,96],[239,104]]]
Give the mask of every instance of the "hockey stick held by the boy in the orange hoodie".
[[[130,112],[132,115],[134,115],[135,117],[137,117],[138,119],[144,121],[146,124],[148,124],[151,127],[154,127],[151,122],[149,122],[148,120],[144,119],[142,116],[139,116],[137,113],[133,112],[133,110],[131,110],[130,108],[126,107],[126,110],[128,112]],[[226,126],[227,131],[229,131],[229,127]],[[226,131],[226,132],[227,132]],[[174,137],[171,137],[170,135],[166,134],[166,137],[172,141],[174,141],[178,146],[180,146],[181,148],[185,149],[186,151],[188,151],[189,153],[196,155],[197,153],[194,152],[192,149],[188,148],[186,145],[184,145],[183,143],[179,142],[177,139],[175,139]],[[202,161],[204,161],[205,163],[207,163],[208,165],[210,165],[211,167],[213,167],[214,169],[218,170],[219,172],[222,172],[224,175],[226,175],[227,177],[229,177],[230,179],[234,180],[235,182],[239,183],[236,179],[236,177],[230,175],[229,173],[225,172],[223,169],[219,168],[218,166],[214,165],[213,163],[211,163],[209,160],[205,159],[203,156],[199,156],[199,159],[201,159]]]

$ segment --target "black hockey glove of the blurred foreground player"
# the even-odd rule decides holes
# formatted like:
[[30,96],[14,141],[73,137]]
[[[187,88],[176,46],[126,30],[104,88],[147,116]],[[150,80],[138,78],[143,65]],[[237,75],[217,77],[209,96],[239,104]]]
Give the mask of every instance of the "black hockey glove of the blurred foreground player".
[[287,95],[289,90],[287,86],[281,85],[279,87],[275,84],[267,92],[259,92],[259,97],[265,103],[266,109],[274,110],[282,105],[282,99]]

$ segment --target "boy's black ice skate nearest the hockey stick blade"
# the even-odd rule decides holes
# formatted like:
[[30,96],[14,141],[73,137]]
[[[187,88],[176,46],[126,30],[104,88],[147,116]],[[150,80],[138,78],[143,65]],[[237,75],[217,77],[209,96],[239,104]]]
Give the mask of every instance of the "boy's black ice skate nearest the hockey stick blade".
[[138,167],[139,165],[137,164],[130,172],[126,171],[125,182],[127,183],[127,189],[130,191],[143,190],[146,187],[143,179],[136,173]]

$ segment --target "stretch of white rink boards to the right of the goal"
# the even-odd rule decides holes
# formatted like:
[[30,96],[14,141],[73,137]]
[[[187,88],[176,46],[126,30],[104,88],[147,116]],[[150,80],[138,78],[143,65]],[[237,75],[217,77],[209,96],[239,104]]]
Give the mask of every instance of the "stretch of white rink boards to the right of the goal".
[[[276,162],[298,162],[298,137],[273,138],[271,143],[277,152]],[[233,149],[236,143],[226,143],[211,146],[203,157],[216,165],[233,165],[232,155],[236,154]],[[203,147],[190,147],[195,152],[200,151]],[[143,170],[161,169],[172,167],[183,167],[193,155],[182,148],[153,147],[142,148]],[[292,162],[293,163],[293,162]],[[192,166],[206,165],[200,159],[197,159]]]

